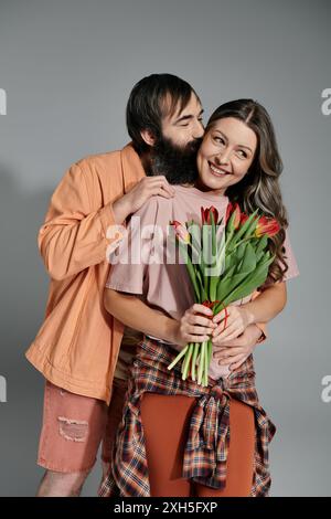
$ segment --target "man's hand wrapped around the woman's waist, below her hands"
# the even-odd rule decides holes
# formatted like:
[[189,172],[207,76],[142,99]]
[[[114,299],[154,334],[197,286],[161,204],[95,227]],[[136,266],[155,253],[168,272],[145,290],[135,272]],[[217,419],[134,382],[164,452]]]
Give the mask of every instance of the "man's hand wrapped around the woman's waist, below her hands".
[[229,369],[234,371],[254,351],[260,335],[261,330],[256,325],[248,325],[239,337],[226,341],[226,346],[220,347],[213,341],[213,357],[220,366],[231,364]]

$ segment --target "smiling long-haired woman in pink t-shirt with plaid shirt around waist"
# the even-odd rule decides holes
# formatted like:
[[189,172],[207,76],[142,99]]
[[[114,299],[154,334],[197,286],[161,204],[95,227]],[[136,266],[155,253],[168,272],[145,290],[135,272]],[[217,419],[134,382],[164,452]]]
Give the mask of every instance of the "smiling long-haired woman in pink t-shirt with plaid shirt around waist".
[[[276,258],[263,293],[228,306],[223,332],[224,310],[211,321],[207,308],[192,306],[185,266],[157,263],[150,236],[139,239],[148,261],[113,267],[105,306],[145,338],[137,345],[113,470],[100,496],[268,496],[268,444],[276,427],[258,402],[253,354],[243,362],[236,348],[217,349],[250,324],[279,314],[286,304],[285,282],[299,274],[286,233],[281,160],[267,112],[252,99],[217,108],[206,126],[197,170],[194,187],[177,186],[172,200],[154,197],[136,213],[141,227],[152,225],[159,233],[169,220],[196,220],[201,205],[214,205],[225,216],[231,201],[247,213],[259,208],[278,221],[280,231],[268,245]],[[127,243],[137,244],[137,236],[131,229]],[[160,233],[157,248],[163,242]],[[179,367],[168,371],[177,350],[211,335],[215,354],[207,388],[183,381]],[[223,357],[222,366],[215,356]]]

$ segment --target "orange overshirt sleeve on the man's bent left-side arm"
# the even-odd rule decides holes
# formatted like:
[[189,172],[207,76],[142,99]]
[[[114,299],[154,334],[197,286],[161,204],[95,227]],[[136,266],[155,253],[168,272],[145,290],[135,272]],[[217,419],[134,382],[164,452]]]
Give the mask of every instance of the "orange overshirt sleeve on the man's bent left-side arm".
[[107,230],[116,224],[109,202],[92,211],[87,183],[88,161],[74,163],[55,189],[38,234],[38,245],[53,279],[62,280],[105,261],[115,239]]

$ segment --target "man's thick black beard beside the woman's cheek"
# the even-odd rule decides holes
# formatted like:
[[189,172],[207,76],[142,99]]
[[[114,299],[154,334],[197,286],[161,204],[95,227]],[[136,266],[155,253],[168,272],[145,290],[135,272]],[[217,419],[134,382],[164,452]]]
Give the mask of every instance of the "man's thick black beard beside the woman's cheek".
[[196,153],[201,142],[202,138],[179,147],[168,137],[160,136],[151,148],[147,174],[164,174],[171,184],[194,183],[197,179]]

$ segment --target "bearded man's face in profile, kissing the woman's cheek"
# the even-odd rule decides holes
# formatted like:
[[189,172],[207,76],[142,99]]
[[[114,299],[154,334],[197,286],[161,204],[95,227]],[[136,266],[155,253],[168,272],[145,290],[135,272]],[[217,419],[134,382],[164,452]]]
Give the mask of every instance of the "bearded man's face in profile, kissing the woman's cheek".
[[185,108],[162,120],[162,135],[150,153],[149,174],[164,174],[171,184],[193,183],[197,178],[196,153],[204,127],[200,102],[192,93]]

